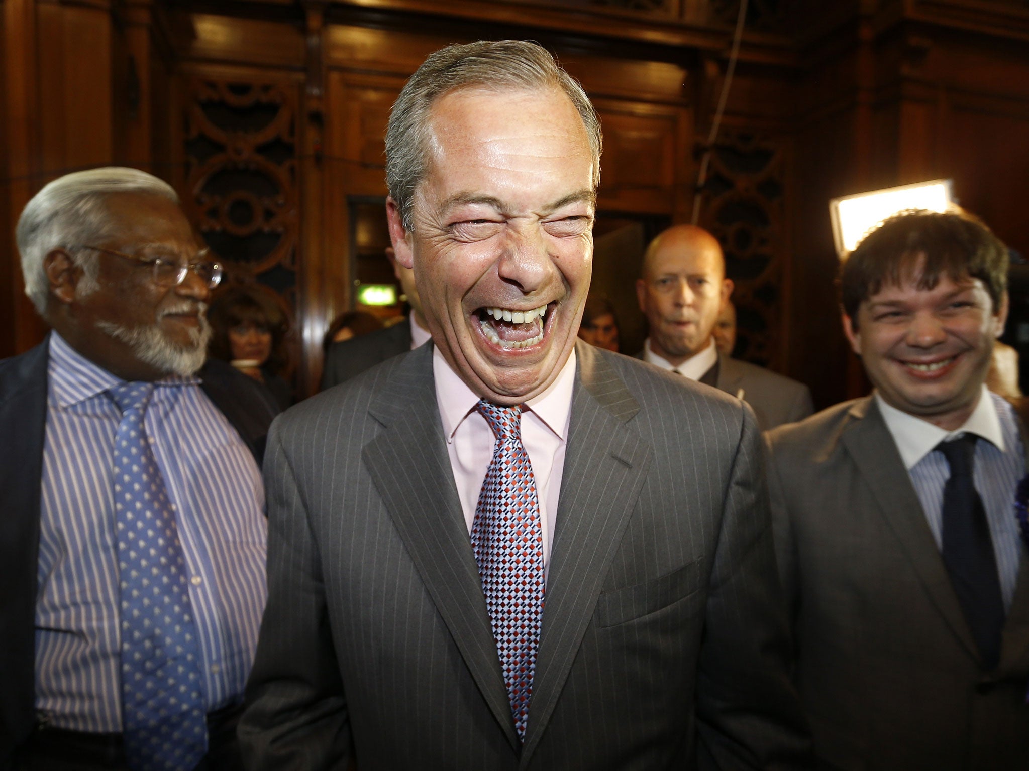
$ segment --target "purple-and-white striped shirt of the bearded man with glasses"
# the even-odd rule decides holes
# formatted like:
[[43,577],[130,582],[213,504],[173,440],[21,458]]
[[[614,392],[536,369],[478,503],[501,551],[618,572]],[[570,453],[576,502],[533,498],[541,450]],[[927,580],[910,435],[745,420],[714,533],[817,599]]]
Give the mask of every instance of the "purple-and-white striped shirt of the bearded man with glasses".
[[[111,451],[120,382],[49,339],[36,603],[36,708],[49,725],[121,731]],[[264,609],[268,524],[253,455],[197,378],[157,382],[147,435],[189,570],[208,711],[237,701]]]

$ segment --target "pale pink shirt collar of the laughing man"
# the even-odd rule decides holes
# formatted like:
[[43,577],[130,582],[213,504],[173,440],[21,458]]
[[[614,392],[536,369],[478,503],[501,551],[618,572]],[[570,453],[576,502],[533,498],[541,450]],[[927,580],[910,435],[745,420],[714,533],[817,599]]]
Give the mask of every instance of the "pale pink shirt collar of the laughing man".
[[[436,403],[439,406],[439,418],[443,425],[443,436],[447,442],[454,441],[454,434],[461,427],[475,405],[478,396],[468,388],[443,359],[436,347],[432,351],[432,377],[436,386]],[[572,409],[572,391],[575,387],[575,350],[561,368],[557,378],[546,391],[533,397],[525,403],[555,436],[562,441],[568,430],[568,416]]]

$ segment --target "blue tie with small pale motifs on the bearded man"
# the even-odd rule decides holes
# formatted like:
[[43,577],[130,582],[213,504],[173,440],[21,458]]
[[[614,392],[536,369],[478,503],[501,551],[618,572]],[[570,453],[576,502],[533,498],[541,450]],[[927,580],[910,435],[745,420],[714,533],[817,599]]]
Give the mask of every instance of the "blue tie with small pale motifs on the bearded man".
[[185,771],[207,751],[200,650],[175,511],[143,415],[151,382],[110,390],[121,595],[121,721],[134,771]]

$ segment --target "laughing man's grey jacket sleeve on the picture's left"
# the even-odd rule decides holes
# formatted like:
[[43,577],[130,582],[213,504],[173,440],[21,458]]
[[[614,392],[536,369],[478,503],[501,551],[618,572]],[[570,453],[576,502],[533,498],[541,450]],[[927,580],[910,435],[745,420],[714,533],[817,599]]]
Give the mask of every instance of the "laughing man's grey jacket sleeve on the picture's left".
[[264,460],[269,599],[239,737],[246,767],[345,769],[350,727],[325,588],[307,508],[283,448],[281,420]]

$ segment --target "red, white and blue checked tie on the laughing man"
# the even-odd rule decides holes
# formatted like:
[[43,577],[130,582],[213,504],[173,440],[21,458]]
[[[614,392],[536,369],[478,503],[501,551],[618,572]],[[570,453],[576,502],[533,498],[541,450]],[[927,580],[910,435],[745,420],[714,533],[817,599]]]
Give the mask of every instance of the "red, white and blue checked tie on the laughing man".
[[525,739],[543,615],[543,529],[529,454],[522,444],[522,407],[486,400],[477,409],[497,442],[478,493],[471,548],[483,580],[514,729]]

